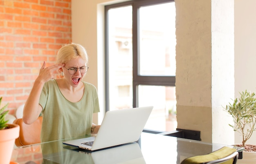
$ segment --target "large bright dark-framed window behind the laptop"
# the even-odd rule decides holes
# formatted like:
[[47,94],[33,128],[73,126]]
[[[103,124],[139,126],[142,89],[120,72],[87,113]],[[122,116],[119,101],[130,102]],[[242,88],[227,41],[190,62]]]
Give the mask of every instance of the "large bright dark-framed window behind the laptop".
[[152,105],[145,129],[175,130],[174,0],[112,4],[105,16],[106,110]]

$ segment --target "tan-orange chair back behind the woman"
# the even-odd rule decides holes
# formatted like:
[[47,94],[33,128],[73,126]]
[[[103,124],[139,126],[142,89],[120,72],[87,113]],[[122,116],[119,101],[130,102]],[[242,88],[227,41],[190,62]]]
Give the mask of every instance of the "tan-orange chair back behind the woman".
[[30,125],[25,124],[22,118],[14,120],[13,124],[18,124],[20,126],[20,136],[15,140],[16,146],[40,143],[42,121],[42,116],[38,117],[38,119]]

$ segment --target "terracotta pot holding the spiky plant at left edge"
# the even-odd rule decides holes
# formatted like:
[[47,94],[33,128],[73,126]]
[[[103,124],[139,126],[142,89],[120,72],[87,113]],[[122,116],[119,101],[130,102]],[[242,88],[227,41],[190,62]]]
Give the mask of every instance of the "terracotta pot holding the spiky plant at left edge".
[[8,127],[0,130],[0,164],[10,164],[15,139],[20,135],[20,126],[8,124]]

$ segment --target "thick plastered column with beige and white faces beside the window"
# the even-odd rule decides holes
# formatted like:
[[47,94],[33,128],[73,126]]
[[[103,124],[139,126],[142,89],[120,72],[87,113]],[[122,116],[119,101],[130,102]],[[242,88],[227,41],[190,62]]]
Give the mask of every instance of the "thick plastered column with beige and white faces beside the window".
[[234,98],[234,0],[176,0],[178,128],[234,143],[223,111]]

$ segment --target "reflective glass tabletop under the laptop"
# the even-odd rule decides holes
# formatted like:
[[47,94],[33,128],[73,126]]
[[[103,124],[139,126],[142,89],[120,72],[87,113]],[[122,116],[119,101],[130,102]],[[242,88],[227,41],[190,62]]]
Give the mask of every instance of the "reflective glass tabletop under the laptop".
[[[151,133],[141,133],[137,142],[94,152],[62,144],[78,138],[82,137],[14,148],[11,161],[18,164],[180,164],[187,157],[228,146]],[[234,148],[238,152],[244,150]]]

